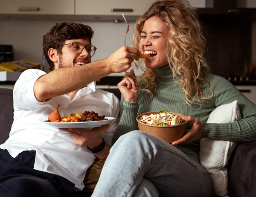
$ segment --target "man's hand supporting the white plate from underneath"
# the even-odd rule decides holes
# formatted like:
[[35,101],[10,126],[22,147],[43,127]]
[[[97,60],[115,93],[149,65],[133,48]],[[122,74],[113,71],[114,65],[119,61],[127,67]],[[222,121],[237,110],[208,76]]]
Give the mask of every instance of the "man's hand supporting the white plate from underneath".
[[91,130],[86,130],[82,128],[60,129],[70,133],[70,136],[74,139],[77,145],[88,146],[89,148],[96,148],[102,144],[102,137],[100,135],[104,133],[104,131],[108,128],[109,125],[95,127]]

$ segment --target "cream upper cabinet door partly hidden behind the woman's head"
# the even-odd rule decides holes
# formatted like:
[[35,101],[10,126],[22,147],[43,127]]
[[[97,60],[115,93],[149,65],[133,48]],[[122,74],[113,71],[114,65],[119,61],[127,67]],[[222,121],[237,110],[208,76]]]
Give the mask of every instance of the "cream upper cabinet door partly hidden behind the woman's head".
[[[155,0],[76,0],[76,15],[140,16]],[[205,0],[189,0],[192,6],[205,7]]]

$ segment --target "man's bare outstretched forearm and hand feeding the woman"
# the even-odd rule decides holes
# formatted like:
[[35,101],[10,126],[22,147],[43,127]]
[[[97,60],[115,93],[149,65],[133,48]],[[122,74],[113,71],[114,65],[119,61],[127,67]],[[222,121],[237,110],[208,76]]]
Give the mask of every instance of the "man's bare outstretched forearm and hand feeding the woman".
[[80,67],[53,70],[35,82],[35,98],[38,101],[44,101],[78,90],[113,72],[124,72],[131,67],[134,59],[139,60],[139,55],[138,49],[123,46],[105,60],[95,61]]

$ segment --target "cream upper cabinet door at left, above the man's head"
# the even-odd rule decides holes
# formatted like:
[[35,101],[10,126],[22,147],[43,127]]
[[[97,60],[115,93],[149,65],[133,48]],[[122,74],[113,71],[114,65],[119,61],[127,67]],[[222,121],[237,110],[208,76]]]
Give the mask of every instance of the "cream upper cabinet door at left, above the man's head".
[[0,0],[0,14],[75,14],[75,0]]

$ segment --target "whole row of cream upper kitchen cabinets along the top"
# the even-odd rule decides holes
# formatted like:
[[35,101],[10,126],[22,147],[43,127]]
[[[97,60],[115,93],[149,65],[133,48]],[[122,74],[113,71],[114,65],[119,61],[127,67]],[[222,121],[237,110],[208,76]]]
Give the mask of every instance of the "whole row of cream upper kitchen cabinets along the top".
[[[136,20],[155,0],[0,0],[0,19]],[[205,0],[189,0],[205,8]],[[47,17],[48,16],[48,17]]]

